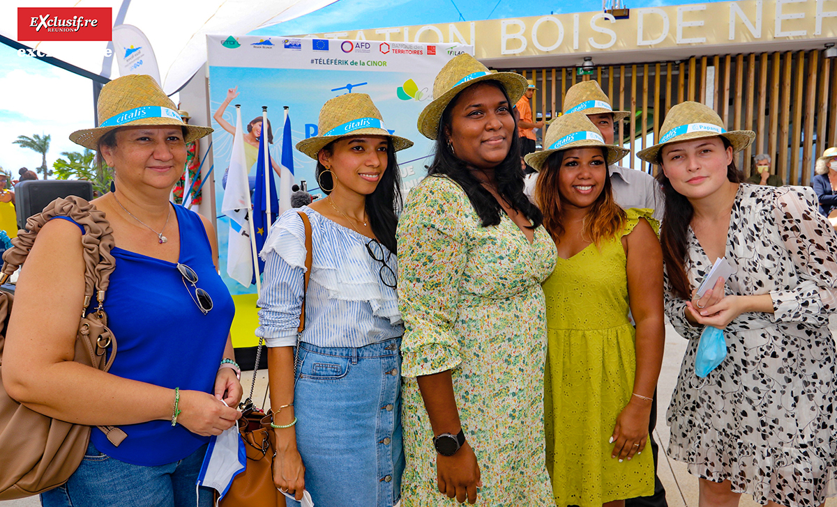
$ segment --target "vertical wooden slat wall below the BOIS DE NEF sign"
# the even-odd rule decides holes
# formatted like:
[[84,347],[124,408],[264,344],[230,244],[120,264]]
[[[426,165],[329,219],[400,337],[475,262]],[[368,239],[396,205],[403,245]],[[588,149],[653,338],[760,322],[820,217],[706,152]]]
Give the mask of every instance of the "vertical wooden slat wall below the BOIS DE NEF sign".
[[[597,79],[614,109],[634,112],[616,125],[615,138],[617,142],[627,138],[635,153],[647,147],[648,133],[653,132],[655,139],[663,134],[660,127],[671,106],[689,99],[706,101],[709,65],[715,67],[710,93],[727,129],[756,132],[752,146],[737,155],[738,168],[749,175],[752,158],[765,153],[771,156],[774,172],[786,184],[809,185],[814,161],[825,148],[837,145],[837,62],[824,58],[822,51],[627,63],[596,68],[592,75],[581,79],[577,79],[576,68],[516,70],[535,79],[538,91],[532,110],[544,118],[555,118],[563,110],[567,89],[573,84]],[[634,157],[623,160],[623,164],[634,167]]]

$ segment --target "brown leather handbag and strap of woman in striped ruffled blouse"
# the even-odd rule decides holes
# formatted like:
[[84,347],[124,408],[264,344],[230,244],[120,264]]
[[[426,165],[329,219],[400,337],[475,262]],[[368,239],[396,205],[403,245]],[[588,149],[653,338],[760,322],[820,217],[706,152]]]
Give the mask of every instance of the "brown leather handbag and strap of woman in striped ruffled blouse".
[[[308,292],[308,278],[311,276],[311,222],[308,215],[298,211],[302,217],[302,224],[306,229],[306,274],[304,292],[302,296],[302,311],[300,312],[300,327],[297,333],[306,328],[306,297]],[[262,339],[256,351],[256,363],[253,370],[253,383],[250,395],[243,405],[244,411],[239,419],[239,433],[247,449],[247,465],[244,472],[235,476],[233,484],[229,486],[227,494],[221,499],[221,507],[285,507],[285,495],[281,494],[273,482],[273,458],[276,455],[276,442],[273,428],[273,413],[264,413],[253,406],[253,389],[256,384],[256,373],[259,371]]]

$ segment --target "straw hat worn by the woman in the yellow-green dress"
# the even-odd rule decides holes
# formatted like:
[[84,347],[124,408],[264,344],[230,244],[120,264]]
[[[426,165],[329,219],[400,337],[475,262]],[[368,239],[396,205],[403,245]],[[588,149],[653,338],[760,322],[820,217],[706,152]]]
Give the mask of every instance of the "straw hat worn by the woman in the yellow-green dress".
[[607,152],[605,159],[608,165],[615,164],[630,153],[630,150],[619,146],[604,144],[602,133],[584,113],[563,114],[556,118],[547,130],[547,139],[543,145],[547,146],[546,150],[536,151],[525,157],[526,164],[538,171],[542,170],[549,155],[556,151],[602,147]]

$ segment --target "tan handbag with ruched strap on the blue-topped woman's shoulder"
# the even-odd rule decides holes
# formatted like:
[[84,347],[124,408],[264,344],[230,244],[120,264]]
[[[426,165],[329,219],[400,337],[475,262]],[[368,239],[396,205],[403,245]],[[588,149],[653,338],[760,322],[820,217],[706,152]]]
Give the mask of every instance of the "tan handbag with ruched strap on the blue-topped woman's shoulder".
[[[27,231],[19,231],[13,248],[3,254],[4,283],[26,260],[41,227],[55,216],[69,216],[85,227],[81,236],[85,259],[85,307],[81,309],[79,332],[75,338],[76,363],[108,371],[116,357],[116,338],[107,327],[102,310],[110,273],[115,261],[110,255],[113,231],[105,214],[80,197],[56,199],[42,213],[26,221]],[[93,297],[99,306],[84,315]],[[0,374],[3,373],[3,346],[13,297],[0,292]],[[110,348],[110,350],[108,350]],[[114,445],[126,434],[119,428],[99,426]],[[50,418],[34,412],[8,397],[0,385],[0,500],[40,494],[64,484],[79,467],[90,441],[90,426]]]

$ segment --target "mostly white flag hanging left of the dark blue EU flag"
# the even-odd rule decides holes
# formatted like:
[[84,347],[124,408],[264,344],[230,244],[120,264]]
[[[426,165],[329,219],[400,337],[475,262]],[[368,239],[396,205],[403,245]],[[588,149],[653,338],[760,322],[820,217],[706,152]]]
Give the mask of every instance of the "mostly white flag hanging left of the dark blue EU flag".
[[[263,136],[264,137],[264,136]],[[227,274],[243,286],[250,286],[253,279],[253,250],[250,246],[247,223],[250,205],[250,187],[247,180],[247,159],[244,156],[244,129],[241,127],[241,109],[236,108],[233,154],[229,157],[227,188],[223,193],[221,212],[229,217],[229,243],[227,246]]]

